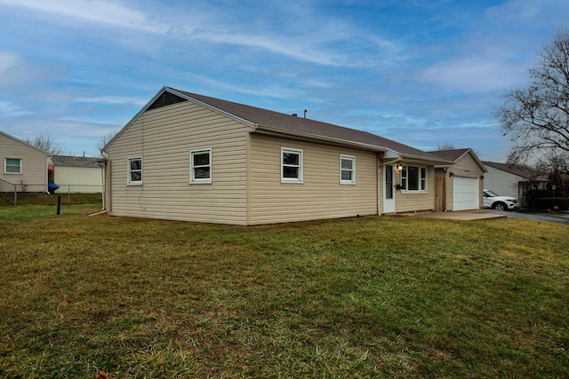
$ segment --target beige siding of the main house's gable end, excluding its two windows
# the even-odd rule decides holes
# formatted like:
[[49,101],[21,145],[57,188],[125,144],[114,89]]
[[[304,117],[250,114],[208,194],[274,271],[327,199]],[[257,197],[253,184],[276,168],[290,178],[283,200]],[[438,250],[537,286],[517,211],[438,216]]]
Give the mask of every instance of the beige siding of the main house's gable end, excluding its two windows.
[[[113,216],[246,224],[249,127],[189,101],[146,111],[108,147]],[[189,151],[212,148],[212,183],[189,184]],[[127,186],[127,159],[142,184]]]

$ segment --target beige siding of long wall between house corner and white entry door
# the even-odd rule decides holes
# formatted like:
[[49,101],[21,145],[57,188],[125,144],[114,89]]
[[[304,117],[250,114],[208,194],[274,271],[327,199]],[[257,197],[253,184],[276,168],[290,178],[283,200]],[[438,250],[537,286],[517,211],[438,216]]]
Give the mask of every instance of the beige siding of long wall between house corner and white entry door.
[[[281,183],[281,148],[303,152],[303,183]],[[356,157],[356,185],[340,184],[341,154]],[[377,155],[340,146],[251,135],[252,225],[377,214]]]

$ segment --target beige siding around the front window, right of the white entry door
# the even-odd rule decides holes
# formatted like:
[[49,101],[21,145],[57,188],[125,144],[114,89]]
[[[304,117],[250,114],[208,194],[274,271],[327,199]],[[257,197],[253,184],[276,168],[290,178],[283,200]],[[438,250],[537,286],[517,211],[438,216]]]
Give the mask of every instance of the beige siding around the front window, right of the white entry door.
[[[425,167],[427,169],[427,192],[395,191],[395,211],[413,212],[435,209],[435,168],[420,163],[405,163],[404,165]],[[396,183],[401,183],[401,170],[396,170]]]

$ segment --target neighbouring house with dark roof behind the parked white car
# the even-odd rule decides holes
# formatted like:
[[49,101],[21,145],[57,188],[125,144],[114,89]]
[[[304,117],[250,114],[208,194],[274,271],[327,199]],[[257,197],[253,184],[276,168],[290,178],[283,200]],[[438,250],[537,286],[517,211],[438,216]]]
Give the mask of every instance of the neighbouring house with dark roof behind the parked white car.
[[536,175],[528,168],[509,163],[483,162],[486,170],[485,187],[501,196],[517,199],[519,207],[527,207],[527,194],[532,190],[545,189],[548,178]]

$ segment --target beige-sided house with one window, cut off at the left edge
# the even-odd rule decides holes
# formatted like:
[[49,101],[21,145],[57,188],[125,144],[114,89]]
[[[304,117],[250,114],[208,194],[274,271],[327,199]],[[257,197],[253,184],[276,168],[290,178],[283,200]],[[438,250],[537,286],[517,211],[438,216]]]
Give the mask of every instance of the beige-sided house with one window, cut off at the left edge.
[[0,131],[0,192],[47,192],[49,154]]

